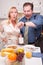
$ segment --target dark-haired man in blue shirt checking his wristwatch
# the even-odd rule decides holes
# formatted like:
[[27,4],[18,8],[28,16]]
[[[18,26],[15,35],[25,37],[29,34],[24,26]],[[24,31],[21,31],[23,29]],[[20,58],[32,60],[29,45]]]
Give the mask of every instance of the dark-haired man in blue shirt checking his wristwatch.
[[23,5],[24,17],[20,19],[21,34],[24,37],[25,26],[28,26],[28,44],[34,44],[41,35],[42,18],[33,14],[33,4],[26,2]]

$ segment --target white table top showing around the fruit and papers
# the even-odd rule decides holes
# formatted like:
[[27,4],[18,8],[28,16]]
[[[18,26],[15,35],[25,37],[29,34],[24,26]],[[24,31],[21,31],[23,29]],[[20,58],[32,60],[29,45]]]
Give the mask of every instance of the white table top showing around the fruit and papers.
[[[20,46],[20,47],[23,47],[26,52],[26,48],[27,48],[26,46]],[[41,52],[40,47],[36,47],[36,48],[37,50],[34,52]],[[5,60],[6,60],[6,57],[0,56],[0,65],[6,65]],[[32,57],[28,59],[26,58],[26,56],[24,56],[24,61],[22,62],[22,65],[42,65],[42,59],[41,57],[40,58]]]

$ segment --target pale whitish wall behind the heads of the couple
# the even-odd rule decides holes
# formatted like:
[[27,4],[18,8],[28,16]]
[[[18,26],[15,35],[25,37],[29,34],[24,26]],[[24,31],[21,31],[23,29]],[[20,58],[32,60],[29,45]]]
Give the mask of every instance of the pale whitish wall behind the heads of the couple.
[[22,5],[24,2],[32,2],[34,4],[34,12],[42,14],[42,1],[43,0],[0,0],[0,18],[7,18],[11,6],[16,6],[19,13],[23,12]]

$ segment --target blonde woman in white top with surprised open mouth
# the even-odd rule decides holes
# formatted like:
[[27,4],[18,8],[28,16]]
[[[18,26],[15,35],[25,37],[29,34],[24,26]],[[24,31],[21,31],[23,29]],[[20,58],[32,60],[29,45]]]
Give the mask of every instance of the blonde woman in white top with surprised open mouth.
[[8,13],[8,20],[1,23],[4,32],[2,36],[0,36],[2,41],[6,44],[18,44],[20,29],[17,27],[17,16],[18,11],[16,7],[11,7]]

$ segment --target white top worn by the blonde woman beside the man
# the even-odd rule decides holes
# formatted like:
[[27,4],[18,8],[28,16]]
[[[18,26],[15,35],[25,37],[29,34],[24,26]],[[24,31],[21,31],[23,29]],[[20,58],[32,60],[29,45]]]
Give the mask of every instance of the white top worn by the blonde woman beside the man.
[[8,24],[8,20],[2,22],[4,33],[8,39],[7,44],[18,44],[18,35],[20,34],[20,29],[14,27],[12,23]]

